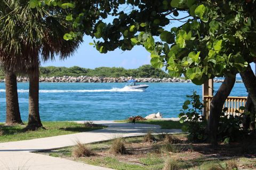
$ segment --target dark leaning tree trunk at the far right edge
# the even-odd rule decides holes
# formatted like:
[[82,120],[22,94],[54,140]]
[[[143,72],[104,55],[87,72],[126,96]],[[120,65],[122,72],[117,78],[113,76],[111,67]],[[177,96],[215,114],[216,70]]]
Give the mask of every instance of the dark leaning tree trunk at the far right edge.
[[[251,102],[253,106],[256,106],[256,77],[252,71],[252,68],[250,65],[248,65],[247,69],[240,73],[242,79],[243,79],[243,82],[244,82],[244,85],[247,89],[247,92],[250,96],[250,100],[247,101],[248,102]],[[254,112],[251,112],[251,115],[250,115],[250,129],[251,130],[255,130],[255,113],[256,113],[256,107],[254,107]],[[247,127],[249,128],[249,127]]]

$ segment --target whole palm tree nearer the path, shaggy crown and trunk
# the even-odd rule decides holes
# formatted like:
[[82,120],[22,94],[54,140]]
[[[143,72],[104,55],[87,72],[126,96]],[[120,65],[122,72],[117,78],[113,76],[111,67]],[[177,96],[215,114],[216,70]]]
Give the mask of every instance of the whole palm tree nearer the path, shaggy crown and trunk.
[[[14,4],[13,10],[4,17],[7,22],[0,23],[0,30],[9,32],[0,35],[4,39],[5,48],[0,62],[4,70],[21,70],[29,75],[29,116],[27,129],[35,130],[42,127],[39,116],[39,64],[40,61],[54,60],[58,55],[61,60],[75,52],[82,39],[66,41],[63,35],[71,30],[65,22],[66,13],[61,8],[30,8],[28,1],[2,0]],[[15,16],[15,22],[9,18]],[[12,28],[9,30],[9,28]],[[15,31],[18,32],[15,32]],[[10,43],[10,35],[15,35]],[[1,40],[2,41],[2,40]],[[6,46],[7,45],[7,46]],[[10,47],[11,46],[11,47]],[[17,49],[18,47],[18,49]],[[10,50],[11,49],[11,50]],[[15,52],[12,52],[15,49]],[[17,57],[18,56],[18,57]]]

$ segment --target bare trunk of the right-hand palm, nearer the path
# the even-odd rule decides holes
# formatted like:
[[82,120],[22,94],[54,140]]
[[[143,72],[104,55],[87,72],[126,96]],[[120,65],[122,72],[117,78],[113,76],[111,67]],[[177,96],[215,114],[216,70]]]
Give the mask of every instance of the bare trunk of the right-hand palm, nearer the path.
[[39,73],[33,72],[29,75],[29,114],[27,130],[42,128],[39,115]]

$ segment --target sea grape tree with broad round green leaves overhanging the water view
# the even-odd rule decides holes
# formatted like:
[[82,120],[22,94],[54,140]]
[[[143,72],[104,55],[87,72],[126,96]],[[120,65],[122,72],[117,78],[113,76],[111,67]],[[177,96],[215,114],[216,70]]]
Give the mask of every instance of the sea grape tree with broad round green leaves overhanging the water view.
[[[256,78],[249,65],[256,56],[255,0],[90,1],[94,14],[83,7],[89,1],[70,2],[74,6],[69,6],[73,10],[66,20],[74,23],[77,32],[67,33],[66,40],[85,33],[98,39],[92,45],[100,53],[142,45],[151,54],[154,67],[165,66],[173,77],[183,74],[195,84],[226,77],[211,105],[215,110],[211,109],[209,131],[214,139],[223,103],[237,73],[247,80],[246,88],[256,105],[256,90],[252,86],[252,81],[256,86]],[[90,17],[83,18],[87,13],[92,19],[98,16],[89,22],[93,26],[90,29],[86,28]],[[113,16],[111,23],[103,20],[108,15]],[[166,29],[172,21],[181,24]]]

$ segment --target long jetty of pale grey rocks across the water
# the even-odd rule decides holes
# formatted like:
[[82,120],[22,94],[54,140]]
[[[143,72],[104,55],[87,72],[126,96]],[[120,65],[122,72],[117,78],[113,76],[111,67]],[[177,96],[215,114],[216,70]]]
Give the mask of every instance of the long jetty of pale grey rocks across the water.
[[[119,77],[119,78],[104,78],[104,77],[88,77],[88,76],[80,76],[80,77],[71,77],[71,76],[63,76],[63,77],[50,77],[39,79],[39,82],[84,82],[84,83],[115,83],[115,82],[127,82],[133,79],[132,77]],[[137,82],[182,82],[189,83],[191,80],[185,80],[181,78],[136,78]],[[27,77],[17,77],[18,82],[28,82],[29,78]],[[0,82],[5,82],[5,79],[0,79]],[[222,79],[214,79],[214,82],[223,82]],[[237,82],[242,82],[238,80]]]

